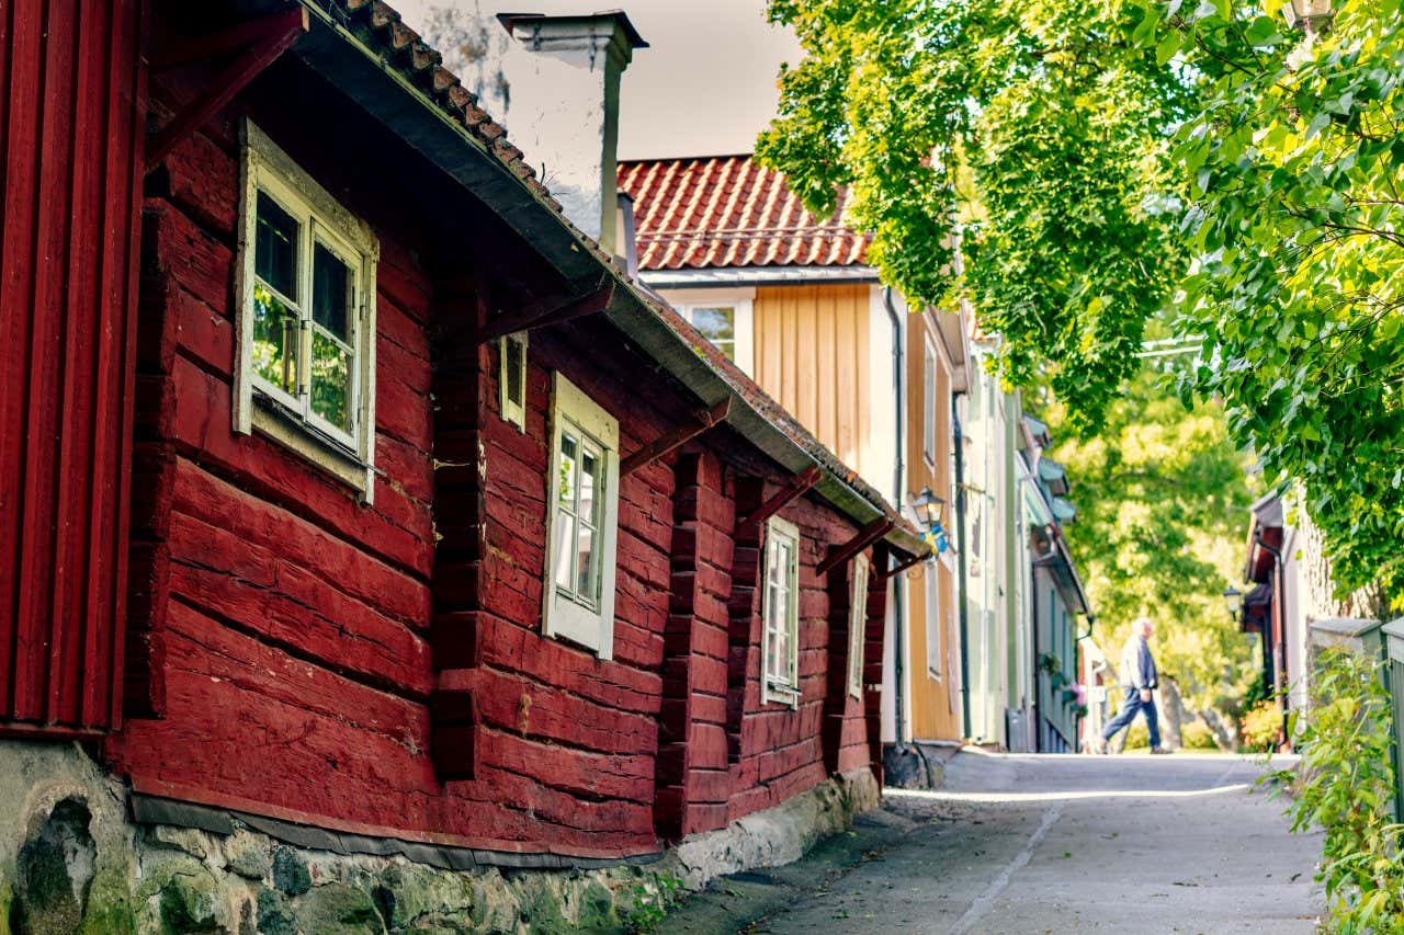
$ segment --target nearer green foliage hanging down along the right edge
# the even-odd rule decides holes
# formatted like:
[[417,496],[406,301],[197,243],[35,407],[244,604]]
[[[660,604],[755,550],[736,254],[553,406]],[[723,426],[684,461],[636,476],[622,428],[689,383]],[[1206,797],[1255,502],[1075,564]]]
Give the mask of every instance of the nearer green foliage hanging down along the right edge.
[[1337,0],[1307,42],[1282,0],[1148,3],[1137,35],[1193,74],[1178,132],[1193,261],[1179,300],[1269,479],[1304,483],[1342,590],[1404,584],[1404,17]]

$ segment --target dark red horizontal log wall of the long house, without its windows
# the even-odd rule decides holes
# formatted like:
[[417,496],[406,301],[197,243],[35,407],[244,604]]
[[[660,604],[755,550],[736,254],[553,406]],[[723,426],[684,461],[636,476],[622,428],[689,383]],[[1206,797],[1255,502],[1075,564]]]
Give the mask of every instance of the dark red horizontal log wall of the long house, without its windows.
[[[740,475],[710,435],[621,482],[614,658],[541,636],[550,371],[619,418],[625,455],[675,425],[681,400],[642,399],[626,375],[649,362],[583,320],[531,336],[518,432],[497,411],[496,344],[461,351],[465,309],[487,309],[477,279],[423,267],[434,244],[338,184],[296,121],[267,117],[254,114],[380,239],[383,475],[366,507],[232,432],[237,147],[232,119],[205,128],[145,204],[131,719],[105,744],[133,788],[368,834],[618,856],[776,804],[826,762],[868,764],[856,701],[827,702],[827,758],[821,741],[826,667],[845,665],[847,643],[830,663],[813,569],[855,528],[809,501],[786,508],[804,533],[803,699],[762,709],[758,646],[729,674]],[[729,755],[733,685],[744,710]]]

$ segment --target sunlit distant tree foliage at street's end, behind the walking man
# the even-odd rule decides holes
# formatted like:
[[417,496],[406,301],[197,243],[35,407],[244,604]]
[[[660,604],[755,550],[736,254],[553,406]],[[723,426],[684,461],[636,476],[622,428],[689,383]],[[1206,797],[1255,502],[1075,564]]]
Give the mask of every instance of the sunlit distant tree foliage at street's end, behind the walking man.
[[1097,640],[1116,660],[1132,621],[1153,618],[1160,668],[1188,708],[1237,717],[1258,681],[1255,644],[1220,594],[1243,577],[1251,491],[1223,411],[1186,410],[1146,366],[1097,434],[1064,435],[1066,417],[1064,406],[1052,407],[1054,438],[1066,438],[1052,456],[1075,484],[1078,517],[1066,535],[1097,608]]

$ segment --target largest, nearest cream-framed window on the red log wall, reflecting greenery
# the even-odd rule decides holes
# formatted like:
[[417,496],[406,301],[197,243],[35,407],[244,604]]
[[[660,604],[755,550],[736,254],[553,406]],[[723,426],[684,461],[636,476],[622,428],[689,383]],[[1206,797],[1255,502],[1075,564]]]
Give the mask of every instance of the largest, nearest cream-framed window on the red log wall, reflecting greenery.
[[369,501],[379,243],[253,122],[241,135],[234,431],[275,438]]

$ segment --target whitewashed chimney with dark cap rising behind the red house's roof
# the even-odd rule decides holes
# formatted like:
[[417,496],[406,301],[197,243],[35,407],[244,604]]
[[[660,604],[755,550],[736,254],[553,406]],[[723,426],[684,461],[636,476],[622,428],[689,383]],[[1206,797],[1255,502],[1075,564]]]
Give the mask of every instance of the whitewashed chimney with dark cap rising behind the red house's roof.
[[618,251],[615,168],[619,76],[646,49],[622,10],[588,15],[500,13],[512,37],[503,62],[507,126],[566,216]]

